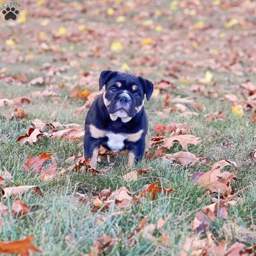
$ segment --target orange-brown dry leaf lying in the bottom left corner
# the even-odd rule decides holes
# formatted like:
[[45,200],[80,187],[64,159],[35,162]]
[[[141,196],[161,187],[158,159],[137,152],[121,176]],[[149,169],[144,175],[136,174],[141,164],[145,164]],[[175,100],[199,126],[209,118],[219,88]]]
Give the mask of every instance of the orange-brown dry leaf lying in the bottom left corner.
[[20,256],[29,256],[29,252],[41,252],[32,244],[33,235],[18,241],[0,241],[0,253],[19,254]]

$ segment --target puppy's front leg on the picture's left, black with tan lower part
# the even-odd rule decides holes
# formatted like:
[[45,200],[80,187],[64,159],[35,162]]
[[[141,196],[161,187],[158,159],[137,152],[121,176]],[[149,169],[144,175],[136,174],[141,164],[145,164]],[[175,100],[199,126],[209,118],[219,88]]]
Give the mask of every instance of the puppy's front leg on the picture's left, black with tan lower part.
[[90,136],[84,136],[84,158],[90,158],[91,166],[96,169],[99,142]]

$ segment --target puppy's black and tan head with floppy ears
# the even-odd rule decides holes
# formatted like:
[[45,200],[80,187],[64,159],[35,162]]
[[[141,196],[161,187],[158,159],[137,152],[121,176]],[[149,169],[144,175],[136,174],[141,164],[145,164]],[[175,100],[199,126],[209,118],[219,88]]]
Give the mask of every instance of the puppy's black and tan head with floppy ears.
[[142,109],[144,95],[149,100],[153,93],[151,81],[131,73],[105,70],[99,77],[99,90],[104,85],[103,100],[112,120],[130,120]]

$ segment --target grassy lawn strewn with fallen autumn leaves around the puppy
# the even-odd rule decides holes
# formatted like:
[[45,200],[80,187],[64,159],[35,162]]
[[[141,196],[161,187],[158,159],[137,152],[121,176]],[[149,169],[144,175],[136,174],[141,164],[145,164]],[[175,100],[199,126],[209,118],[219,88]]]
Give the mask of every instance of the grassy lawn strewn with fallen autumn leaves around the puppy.
[[[245,249],[256,245],[256,2],[24,0],[15,8],[17,20],[4,19],[5,7],[0,13],[0,186],[37,185],[43,193],[2,191],[0,241],[33,235],[41,250],[34,255],[47,256],[249,255],[253,250]],[[147,143],[193,135],[193,163],[168,155],[186,151],[175,140],[133,167],[127,154],[113,152],[102,153],[97,172],[72,167],[82,161],[83,136],[57,132],[81,134],[108,69],[153,82]],[[17,141],[37,128],[35,119],[45,123],[43,136]],[[163,140],[147,150],[162,146]],[[43,169],[26,168],[30,156],[43,153],[51,154]],[[216,175],[217,189],[200,182],[221,160],[235,162],[219,167],[235,177]],[[42,176],[52,164],[57,168]],[[155,197],[148,190],[141,196],[155,181]],[[123,186],[131,200],[122,204],[115,191]],[[103,189],[111,202],[102,199]],[[26,212],[15,208],[19,198]],[[212,203],[215,211],[205,211]]]

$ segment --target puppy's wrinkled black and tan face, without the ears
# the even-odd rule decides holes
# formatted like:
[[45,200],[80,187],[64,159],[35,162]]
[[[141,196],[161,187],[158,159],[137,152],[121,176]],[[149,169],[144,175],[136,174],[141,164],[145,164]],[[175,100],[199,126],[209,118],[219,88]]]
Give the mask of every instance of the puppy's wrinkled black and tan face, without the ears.
[[137,76],[120,73],[105,85],[103,99],[108,113],[128,118],[140,112],[144,104],[144,90]]

